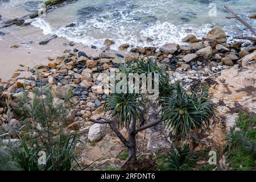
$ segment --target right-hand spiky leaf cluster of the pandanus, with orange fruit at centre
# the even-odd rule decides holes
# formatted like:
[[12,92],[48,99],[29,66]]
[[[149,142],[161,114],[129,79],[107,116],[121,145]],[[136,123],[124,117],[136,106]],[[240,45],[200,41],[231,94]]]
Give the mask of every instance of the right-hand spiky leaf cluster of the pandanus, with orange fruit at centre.
[[162,97],[162,119],[173,133],[184,139],[193,129],[208,128],[213,105],[208,102],[208,93],[197,97],[187,94],[179,82],[176,83],[173,97]]

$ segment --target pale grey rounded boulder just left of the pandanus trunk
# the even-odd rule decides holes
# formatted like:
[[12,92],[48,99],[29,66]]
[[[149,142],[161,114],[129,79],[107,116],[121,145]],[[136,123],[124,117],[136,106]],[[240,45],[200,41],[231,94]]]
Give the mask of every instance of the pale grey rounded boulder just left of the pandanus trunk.
[[107,124],[98,124],[94,123],[88,133],[89,142],[98,142],[100,141],[106,134]]

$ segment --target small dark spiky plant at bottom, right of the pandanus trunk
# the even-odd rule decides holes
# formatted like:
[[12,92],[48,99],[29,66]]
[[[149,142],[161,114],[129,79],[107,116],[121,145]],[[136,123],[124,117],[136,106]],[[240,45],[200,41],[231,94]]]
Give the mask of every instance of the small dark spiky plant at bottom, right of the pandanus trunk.
[[190,169],[194,164],[193,153],[188,144],[175,145],[167,157],[168,167],[171,171],[183,171]]

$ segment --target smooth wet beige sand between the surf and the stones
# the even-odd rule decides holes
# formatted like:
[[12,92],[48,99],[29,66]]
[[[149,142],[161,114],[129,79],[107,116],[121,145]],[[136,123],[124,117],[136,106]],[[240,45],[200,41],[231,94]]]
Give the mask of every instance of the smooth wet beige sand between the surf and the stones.
[[[101,51],[85,47],[82,44],[68,46],[69,40],[64,38],[52,39],[47,45],[39,42],[51,38],[52,35],[43,35],[42,30],[32,26],[19,27],[9,32],[0,40],[0,80],[8,81],[15,72],[21,75],[38,64],[48,64],[48,57],[56,58],[63,55],[65,49],[77,48],[87,55],[98,56]],[[11,48],[18,46],[18,48]],[[24,65],[20,67],[19,65]]]

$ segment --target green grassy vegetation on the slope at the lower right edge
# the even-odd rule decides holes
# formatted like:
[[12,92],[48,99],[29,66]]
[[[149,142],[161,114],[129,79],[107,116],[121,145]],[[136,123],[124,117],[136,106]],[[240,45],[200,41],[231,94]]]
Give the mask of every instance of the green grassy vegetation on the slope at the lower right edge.
[[241,112],[236,122],[236,127],[240,127],[240,130],[233,128],[226,137],[229,146],[227,152],[229,169],[253,170],[256,166],[256,115]]

